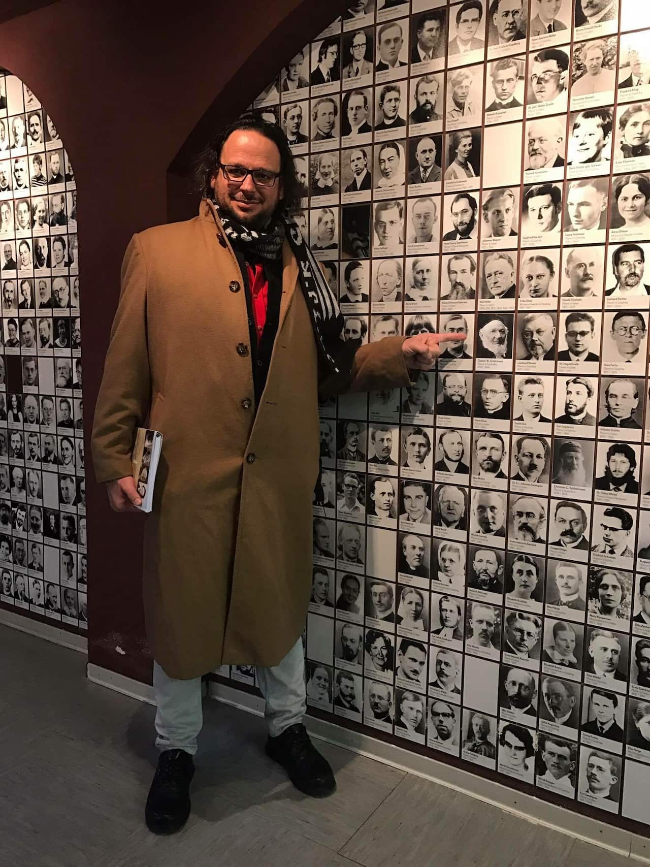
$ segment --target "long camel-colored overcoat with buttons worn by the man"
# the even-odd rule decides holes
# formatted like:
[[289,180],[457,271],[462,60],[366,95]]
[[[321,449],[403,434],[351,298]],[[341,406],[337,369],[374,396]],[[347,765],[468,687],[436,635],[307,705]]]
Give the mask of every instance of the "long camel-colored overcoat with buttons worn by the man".
[[[153,656],[172,677],[276,665],[304,627],[319,420],[315,338],[297,277],[285,241],[276,342],[255,413],[250,355],[237,351],[250,342],[244,278],[212,205],[134,235],[124,257],[94,469],[98,482],[131,475],[135,428],[163,434],[143,590]],[[358,349],[351,388],[408,385],[404,339]]]

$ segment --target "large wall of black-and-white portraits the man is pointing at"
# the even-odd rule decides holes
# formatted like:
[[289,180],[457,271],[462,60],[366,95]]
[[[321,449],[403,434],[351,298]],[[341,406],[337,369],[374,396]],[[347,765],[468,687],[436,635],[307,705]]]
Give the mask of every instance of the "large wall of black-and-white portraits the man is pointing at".
[[309,705],[649,825],[650,4],[355,0],[255,107],[346,336],[467,336],[321,402]]

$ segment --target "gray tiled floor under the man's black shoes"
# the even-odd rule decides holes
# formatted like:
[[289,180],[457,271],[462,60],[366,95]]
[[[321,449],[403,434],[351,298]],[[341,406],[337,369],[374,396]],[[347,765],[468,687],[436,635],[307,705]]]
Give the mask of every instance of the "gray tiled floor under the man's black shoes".
[[635,863],[323,743],[338,789],[305,798],[264,755],[263,720],[213,701],[192,818],[154,837],[142,818],[153,707],[89,683],[84,666],[72,650],[0,626],[2,867]]

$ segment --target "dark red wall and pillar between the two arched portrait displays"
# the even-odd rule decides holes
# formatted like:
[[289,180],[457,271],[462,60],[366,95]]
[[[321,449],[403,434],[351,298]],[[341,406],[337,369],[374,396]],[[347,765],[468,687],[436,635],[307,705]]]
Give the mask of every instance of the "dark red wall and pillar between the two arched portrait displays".
[[[205,138],[331,22],[335,5],[68,0],[0,24],[0,65],[52,115],[75,168],[87,438],[129,238],[192,215],[185,176]],[[144,518],[111,512],[88,470],[88,658],[150,681]]]

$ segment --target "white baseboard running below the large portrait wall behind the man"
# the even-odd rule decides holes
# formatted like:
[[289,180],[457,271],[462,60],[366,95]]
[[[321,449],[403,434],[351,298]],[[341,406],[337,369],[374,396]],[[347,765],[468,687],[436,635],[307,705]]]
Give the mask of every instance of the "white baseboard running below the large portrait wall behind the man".
[[[215,681],[209,683],[208,695],[217,701],[223,701],[224,704],[263,716],[263,699],[257,695],[250,695]],[[440,786],[463,792],[485,804],[500,807],[535,825],[569,834],[570,837],[585,840],[587,843],[601,846],[624,857],[650,864],[650,840],[630,831],[614,828],[612,825],[598,822],[571,810],[564,810],[562,807],[549,804],[548,801],[524,792],[515,792],[508,786],[502,786],[491,779],[484,779],[436,759],[411,753],[400,746],[387,744],[383,740],[375,740],[370,735],[341,728],[328,720],[309,717],[309,733],[315,738],[326,740],[335,746],[342,746],[353,753],[375,759],[384,765],[400,768],[415,776],[430,779]]]

